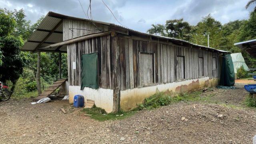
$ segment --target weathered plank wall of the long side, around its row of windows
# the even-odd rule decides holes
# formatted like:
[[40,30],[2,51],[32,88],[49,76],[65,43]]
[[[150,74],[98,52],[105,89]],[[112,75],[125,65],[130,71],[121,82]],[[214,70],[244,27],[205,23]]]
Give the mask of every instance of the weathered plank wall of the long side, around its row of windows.
[[[134,40],[131,38],[119,38],[120,44],[120,87],[121,90],[139,88],[144,82],[140,76],[140,53],[154,54],[154,74],[152,79],[154,84],[166,84],[181,80],[191,80],[202,78],[198,70],[198,58],[204,60],[203,77],[218,78],[218,54],[197,48],[187,48],[182,46],[173,46],[155,42],[146,42],[143,40]],[[176,67],[177,56],[184,58],[184,73],[178,74]],[[216,57],[216,70],[212,69],[212,58]],[[151,74],[150,74],[151,76]],[[182,76],[183,78],[178,78]]]

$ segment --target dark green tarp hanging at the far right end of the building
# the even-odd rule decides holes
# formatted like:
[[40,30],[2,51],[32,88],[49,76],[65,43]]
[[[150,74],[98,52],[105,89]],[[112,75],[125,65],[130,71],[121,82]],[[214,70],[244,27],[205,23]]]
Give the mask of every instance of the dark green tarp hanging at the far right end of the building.
[[234,65],[230,54],[223,54],[222,68],[220,74],[220,85],[222,86],[234,86],[235,84],[235,72]]

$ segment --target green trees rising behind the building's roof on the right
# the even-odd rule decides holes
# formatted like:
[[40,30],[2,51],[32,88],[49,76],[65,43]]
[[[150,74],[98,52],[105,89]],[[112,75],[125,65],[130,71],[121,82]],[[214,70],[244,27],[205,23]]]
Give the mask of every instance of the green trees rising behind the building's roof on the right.
[[[183,19],[166,20],[164,30],[158,32],[158,34],[203,46],[208,45],[207,37],[209,34],[210,47],[232,53],[242,52],[248,67],[256,68],[256,58],[252,58],[246,52],[234,46],[236,42],[256,39],[255,30],[256,12],[251,12],[248,20],[234,20],[226,24],[221,24],[210,14],[203,17],[196,25],[191,25]],[[151,32],[148,31],[148,33]]]

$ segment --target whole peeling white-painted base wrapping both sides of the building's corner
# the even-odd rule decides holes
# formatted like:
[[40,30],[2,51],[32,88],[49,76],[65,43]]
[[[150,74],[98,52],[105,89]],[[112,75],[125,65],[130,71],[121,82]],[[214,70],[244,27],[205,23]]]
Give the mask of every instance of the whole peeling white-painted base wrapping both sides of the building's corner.
[[[148,98],[152,94],[155,94],[157,90],[166,91],[170,90],[175,93],[176,88],[179,86],[188,86],[195,84],[196,88],[203,88],[206,81],[208,86],[214,86],[218,83],[218,78],[210,79],[209,77],[198,78],[193,80],[184,80],[181,82],[172,82],[168,84],[159,84],[155,86],[148,86],[143,88],[134,88],[129,90],[120,91],[120,106],[122,110],[128,111],[136,108],[137,104],[142,103],[145,98]],[[194,81],[194,83],[193,83]],[[199,82],[199,84],[198,84]],[[192,86],[193,87],[193,86]],[[189,89],[188,89],[189,90]],[[80,86],[69,86],[69,102],[73,103],[74,96],[80,94],[84,96],[84,102],[86,99],[94,100],[97,107],[103,108],[106,112],[110,113],[113,109],[113,90],[98,88],[97,90],[85,87],[84,90],[80,90]]]

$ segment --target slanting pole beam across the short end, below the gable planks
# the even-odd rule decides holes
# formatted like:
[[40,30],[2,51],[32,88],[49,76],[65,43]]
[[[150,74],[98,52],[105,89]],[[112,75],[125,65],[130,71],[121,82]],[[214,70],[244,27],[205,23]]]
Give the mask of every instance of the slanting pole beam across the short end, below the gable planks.
[[53,47],[56,47],[56,46],[64,46],[64,45],[67,45],[67,44],[72,44],[74,42],[80,42],[82,40],[87,40],[87,39],[98,37],[98,36],[104,36],[104,35],[110,34],[110,33],[111,33],[111,31],[100,32],[100,33],[95,33],[95,34],[88,34],[88,35],[85,35],[85,36],[80,36],[78,38],[73,38],[73,39],[70,39],[70,40],[66,40],[64,42],[59,42],[59,43],[56,43],[56,44],[51,44],[49,46],[44,46],[44,47],[41,47],[40,50],[53,48]]

